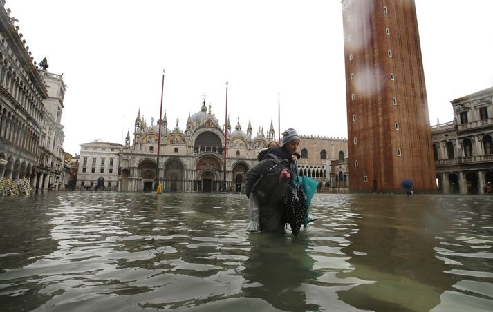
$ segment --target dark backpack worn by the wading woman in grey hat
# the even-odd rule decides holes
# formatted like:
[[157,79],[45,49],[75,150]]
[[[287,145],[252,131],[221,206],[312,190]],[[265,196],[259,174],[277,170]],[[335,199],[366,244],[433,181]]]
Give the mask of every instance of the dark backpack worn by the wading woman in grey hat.
[[275,205],[282,199],[288,187],[289,179],[280,179],[280,176],[282,170],[289,168],[289,162],[288,159],[281,160],[272,154],[266,155],[266,159],[267,169],[255,182],[252,192],[257,196],[259,203]]

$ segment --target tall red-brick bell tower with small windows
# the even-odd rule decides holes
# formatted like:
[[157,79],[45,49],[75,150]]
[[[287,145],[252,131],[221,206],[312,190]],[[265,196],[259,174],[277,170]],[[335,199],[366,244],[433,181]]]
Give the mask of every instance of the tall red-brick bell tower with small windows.
[[352,191],[436,191],[414,0],[343,0]]

